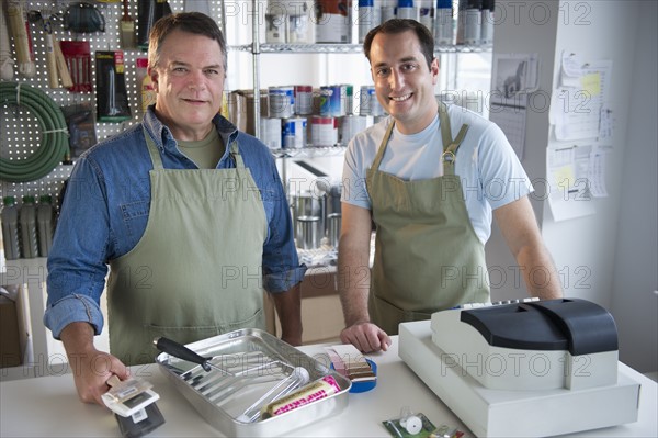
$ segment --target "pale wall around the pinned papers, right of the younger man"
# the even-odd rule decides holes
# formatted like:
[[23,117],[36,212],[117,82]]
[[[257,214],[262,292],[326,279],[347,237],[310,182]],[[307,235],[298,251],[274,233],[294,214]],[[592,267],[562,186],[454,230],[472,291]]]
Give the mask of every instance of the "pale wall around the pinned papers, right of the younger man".
[[[650,27],[655,26],[656,2],[502,1],[497,8],[499,3],[508,12],[518,12],[519,22],[508,16],[496,29],[495,52],[538,53],[543,90],[551,92],[557,86],[563,50],[579,54],[583,61],[613,61],[609,103],[615,130],[606,159],[609,196],[589,201],[594,215],[570,221],[556,222],[547,202],[533,206],[560,271],[565,295],[593,301],[613,312],[622,360],[640,371],[655,371],[657,38]],[[530,13],[533,8],[534,16]],[[542,9],[551,13],[543,24],[538,20]],[[529,112],[523,165],[531,178],[546,176],[547,147],[571,144],[555,139],[547,113]],[[624,212],[620,214],[620,210]],[[513,263],[499,233],[487,249],[490,266]],[[525,294],[522,284],[509,281],[494,293]]]

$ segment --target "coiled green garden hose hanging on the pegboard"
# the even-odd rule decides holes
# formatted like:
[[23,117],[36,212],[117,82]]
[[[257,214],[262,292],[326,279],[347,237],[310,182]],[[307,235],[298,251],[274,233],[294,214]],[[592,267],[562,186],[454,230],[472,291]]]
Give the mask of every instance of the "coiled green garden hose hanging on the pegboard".
[[21,82],[0,82],[0,105],[24,108],[38,121],[42,143],[24,159],[0,158],[0,180],[27,182],[53,171],[68,153],[68,130],[59,106],[45,92]]

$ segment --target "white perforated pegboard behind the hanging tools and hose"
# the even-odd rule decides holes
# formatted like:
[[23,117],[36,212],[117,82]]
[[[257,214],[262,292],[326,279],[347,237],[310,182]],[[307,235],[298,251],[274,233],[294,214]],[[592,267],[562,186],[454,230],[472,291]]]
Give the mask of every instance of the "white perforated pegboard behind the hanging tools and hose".
[[[8,0],[2,0],[4,3]],[[188,0],[188,1],[203,1],[203,0]],[[97,50],[118,50],[120,44],[120,21],[123,14],[123,5],[121,2],[93,2],[99,12],[105,20],[105,31],[95,33],[73,33],[67,31],[63,26],[61,16],[66,11],[69,3],[72,0],[67,1],[23,1],[23,9],[27,11],[39,11],[42,16],[50,16],[53,24],[53,34],[58,41],[88,41],[91,49],[91,70],[92,70],[92,83],[95,89],[95,65],[94,65],[94,52]],[[173,12],[180,12],[184,10],[183,0],[170,0],[169,4]],[[222,27],[222,4],[219,0],[207,1],[209,3],[211,15],[219,23]],[[137,0],[128,1],[128,13],[135,20],[135,27],[137,29]],[[18,69],[14,66],[14,81],[27,83],[34,88],[38,88],[48,94],[59,106],[66,106],[76,103],[90,103],[95,112],[95,96],[94,93],[72,93],[64,88],[52,89],[48,87],[48,77],[46,71],[46,46],[45,46],[45,31],[41,22],[30,23],[30,31],[32,35],[34,58],[36,63],[36,75],[34,77],[25,77],[18,74]],[[12,53],[13,42],[12,42]],[[128,101],[131,105],[132,120],[123,123],[97,123],[95,133],[97,138],[103,139],[115,135],[126,127],[139,122],[141,114],[138,112],[138,100],[137,92],[138,87],[136,83],[136,67],[135,59],[137,57],[146,57],[146,52],[140,49],[124,50],[124,63],[125,63],[125,81],[126,91],[128,94]],[[14,55],[15,56],[15,55]],[[3,159],[22,159],[32,155],[36,148],[39,147],[42,135],[36,122],[36,119],[29,111],[18,111],[15,108],[8,108],[7,105],[0,108],[0,157]],[[95,113],[94,113],[95,120]],[[61,190],[64,181],[69,177],[71,171],[70,165],[60,165],[55,168],[46,177],[31,182],[7,182],[0,181],[0,198],[5,195],[13,195],[16,199],[21,199],[25,194],[42,195],[50,194],[54,200],[57,199],[57,194]]]

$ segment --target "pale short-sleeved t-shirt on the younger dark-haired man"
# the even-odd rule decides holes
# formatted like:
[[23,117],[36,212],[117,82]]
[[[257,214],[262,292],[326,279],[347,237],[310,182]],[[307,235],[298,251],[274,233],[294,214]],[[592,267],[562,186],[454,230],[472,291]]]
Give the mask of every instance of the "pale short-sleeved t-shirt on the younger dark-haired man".
[[[457,149],[455,172],[462,182],[470,223],[485,244],[491,235],[492,209],[527,195],[533,190],[532,184],[498,125],[457,105],[449,105],[447,113],[453,138],[463,124],[469,125]],[[392,117],[386,117],[350,142],[343,165],[342,202],[372,210],[365,186],[366,170],[392,122]],[[443,144],[439,125],[436,114],[433,122],[417,134],[405,135],[394,127],[379,170],[406,181],[442,176]]]

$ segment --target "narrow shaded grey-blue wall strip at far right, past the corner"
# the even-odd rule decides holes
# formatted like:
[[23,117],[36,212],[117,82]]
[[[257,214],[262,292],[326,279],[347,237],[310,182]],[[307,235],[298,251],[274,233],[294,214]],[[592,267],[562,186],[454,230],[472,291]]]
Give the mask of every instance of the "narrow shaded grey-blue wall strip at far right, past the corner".
[[657,16],[658,2],[640,2],[612,283],[622,360],[643,372],[658,369]]

